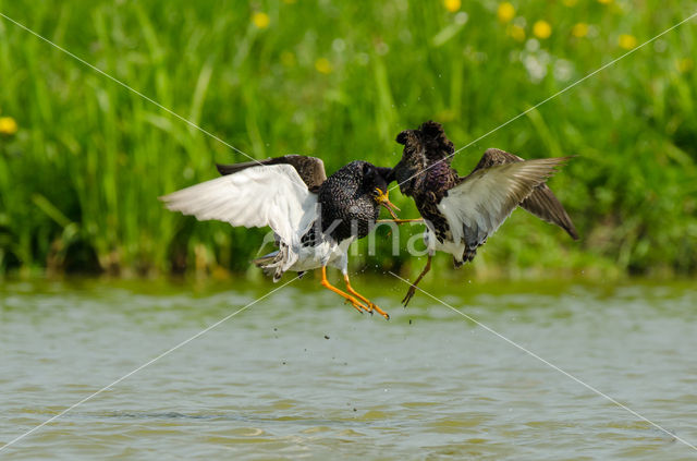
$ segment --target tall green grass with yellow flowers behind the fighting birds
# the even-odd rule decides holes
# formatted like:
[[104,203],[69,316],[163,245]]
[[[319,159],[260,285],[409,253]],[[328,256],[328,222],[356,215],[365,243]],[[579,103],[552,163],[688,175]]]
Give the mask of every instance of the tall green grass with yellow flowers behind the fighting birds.
[[[255,158],[314,155],[331,172],[358,158],[395,163],[396,134],[429,119],[462,147],[690,5],[0,0],[0,12]],[[468,275],[695,272],[696,38],[686,23],[456,156],[461,173],[492,146],[578,156],[551,186],[582,241],[516,211]],[[0,118],[0,274],[258,277],[248,260],[265,231],[196,222],[157,201],[245,158],[5,19]],[[416,217],[411,199],[392,198]],[[403,242],[416,232],[401,229]],[[354,269],[423,264],[392,256],[378,233],[377,256],[362,243]]]

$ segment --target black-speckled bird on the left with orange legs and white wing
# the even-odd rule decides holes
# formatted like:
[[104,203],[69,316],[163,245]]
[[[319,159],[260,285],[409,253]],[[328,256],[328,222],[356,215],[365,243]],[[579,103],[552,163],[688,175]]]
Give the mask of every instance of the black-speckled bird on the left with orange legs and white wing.
[[[277,282],[285,271],[321,269],[321,286],[359,312],[389,315],[359,294],[348,277],[348,245],[366,236],[389,199],[390,168],[352,161],[329,178],[321,159],[286,155],[235,165],[217,165],[222,174],[160,197],[172,211],[233,227],[270,227],[279,250],[254,259]],[[327,280],[327,266],[339,268],[346,291]]]

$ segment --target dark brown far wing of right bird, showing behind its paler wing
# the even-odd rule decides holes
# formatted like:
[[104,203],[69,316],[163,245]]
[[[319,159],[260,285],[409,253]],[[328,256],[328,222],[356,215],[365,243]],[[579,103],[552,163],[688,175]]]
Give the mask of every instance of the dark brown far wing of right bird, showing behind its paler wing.
[[[519,161],[524,161],[524,159],[501,149],[491,148],[484,153],[472,173],[496,165],[516,163]],[[535,187],[533,193],[521,203],[521,206],[541,220],[564,229],[572,239],[578,240],[578,232],[568,214],[547,184],[542,183]]]

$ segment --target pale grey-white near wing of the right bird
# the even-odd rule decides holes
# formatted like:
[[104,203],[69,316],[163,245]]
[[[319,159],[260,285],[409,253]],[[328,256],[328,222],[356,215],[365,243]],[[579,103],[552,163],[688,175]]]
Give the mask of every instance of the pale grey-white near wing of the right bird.
[[546,158],[476,170],[438,204],[455,242],[476,248],[566,158]]

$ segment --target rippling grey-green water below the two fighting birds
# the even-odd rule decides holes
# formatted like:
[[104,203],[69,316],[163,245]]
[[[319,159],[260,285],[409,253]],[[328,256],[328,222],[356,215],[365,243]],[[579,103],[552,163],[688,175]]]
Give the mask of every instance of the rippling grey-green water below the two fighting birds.
[[[0,458],[697,459],[674,437],[421,293],[405,311],[398,307],[401,282],[367,282],[355,286],[392,314],[389,323],[357,314],[311,277],[294,282]],[[0,445],[271,288],[5,282]],[[690,284],[433,290],[697,444]]]

